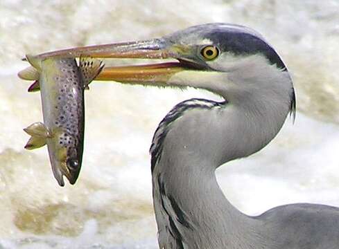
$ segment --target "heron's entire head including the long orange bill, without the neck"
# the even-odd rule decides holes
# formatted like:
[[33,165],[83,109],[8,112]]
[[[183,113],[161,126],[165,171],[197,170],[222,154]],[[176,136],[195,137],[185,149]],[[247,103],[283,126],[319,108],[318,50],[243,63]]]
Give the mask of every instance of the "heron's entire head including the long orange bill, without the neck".
[[40,56],[89,55],[161,59],[160,63],[105,67],[96,80],[130,84],[192,86],[243,102],[259,93],[288,95],[295,110],[292,80],[277,52],[256,31],[232,24],[202,24],[159,39],[85,46]]

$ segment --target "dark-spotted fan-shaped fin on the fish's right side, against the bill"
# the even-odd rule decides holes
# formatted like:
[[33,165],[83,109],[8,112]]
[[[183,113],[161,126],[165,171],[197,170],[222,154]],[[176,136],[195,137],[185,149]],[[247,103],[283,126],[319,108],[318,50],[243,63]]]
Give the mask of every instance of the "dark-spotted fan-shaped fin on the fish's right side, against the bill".
[[79,68],[84,80],[84,88],[88,88],[88,84],[103,70],[103,61],[92,57],[82,57],[79,59]]

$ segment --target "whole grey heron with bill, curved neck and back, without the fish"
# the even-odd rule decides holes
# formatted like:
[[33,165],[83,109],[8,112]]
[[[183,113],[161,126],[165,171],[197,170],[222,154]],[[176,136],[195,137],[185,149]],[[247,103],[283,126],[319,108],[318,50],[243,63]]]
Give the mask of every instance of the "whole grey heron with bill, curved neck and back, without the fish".
[[259,216],[237,210],[220,190],[215,170],[265,147],[295,113],[288,70],[257,32],[204,24],[160,39],[70,48],[40,56],[173,59],[107,67],[96,80],[149,86],[191,86],[223,102],[177,104],[155,131],[153,201],[160,248],[339,248],[339,209],[283,205]]

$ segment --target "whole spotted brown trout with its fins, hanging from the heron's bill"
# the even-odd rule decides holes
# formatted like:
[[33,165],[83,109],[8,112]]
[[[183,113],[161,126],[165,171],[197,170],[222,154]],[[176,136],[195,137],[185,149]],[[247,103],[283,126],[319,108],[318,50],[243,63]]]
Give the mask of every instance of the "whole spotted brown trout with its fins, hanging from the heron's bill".
[[40,58],[27,55],[33,66],[18,75],[35,80],[28,91],[41,91],[44,123],[35,122],[24,131],[31,135],[25,148],[47,145],[55,179],[64,186],[63,176],[76,183],[79,176],[85,127],[84,89],[103,69],[101,60],[80,57]]

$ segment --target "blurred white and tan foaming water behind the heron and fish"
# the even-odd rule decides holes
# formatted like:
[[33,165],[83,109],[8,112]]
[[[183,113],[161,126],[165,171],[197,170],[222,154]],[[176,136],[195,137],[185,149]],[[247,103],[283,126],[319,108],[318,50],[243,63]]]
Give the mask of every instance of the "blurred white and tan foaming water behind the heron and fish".
[[26,53],[148,39],[207,22],[250,26],[293,74],[297,119],[258,154],[218,169],[246,214],[295,202],[339,206],[339,1],[1,0],[0,248],[157,248],[148,147],[158,122],[205,91],[94,82],[85,93],[82,171],[59,187],[46,147],[22,129],[42,121],[39,93],[17,72]]

